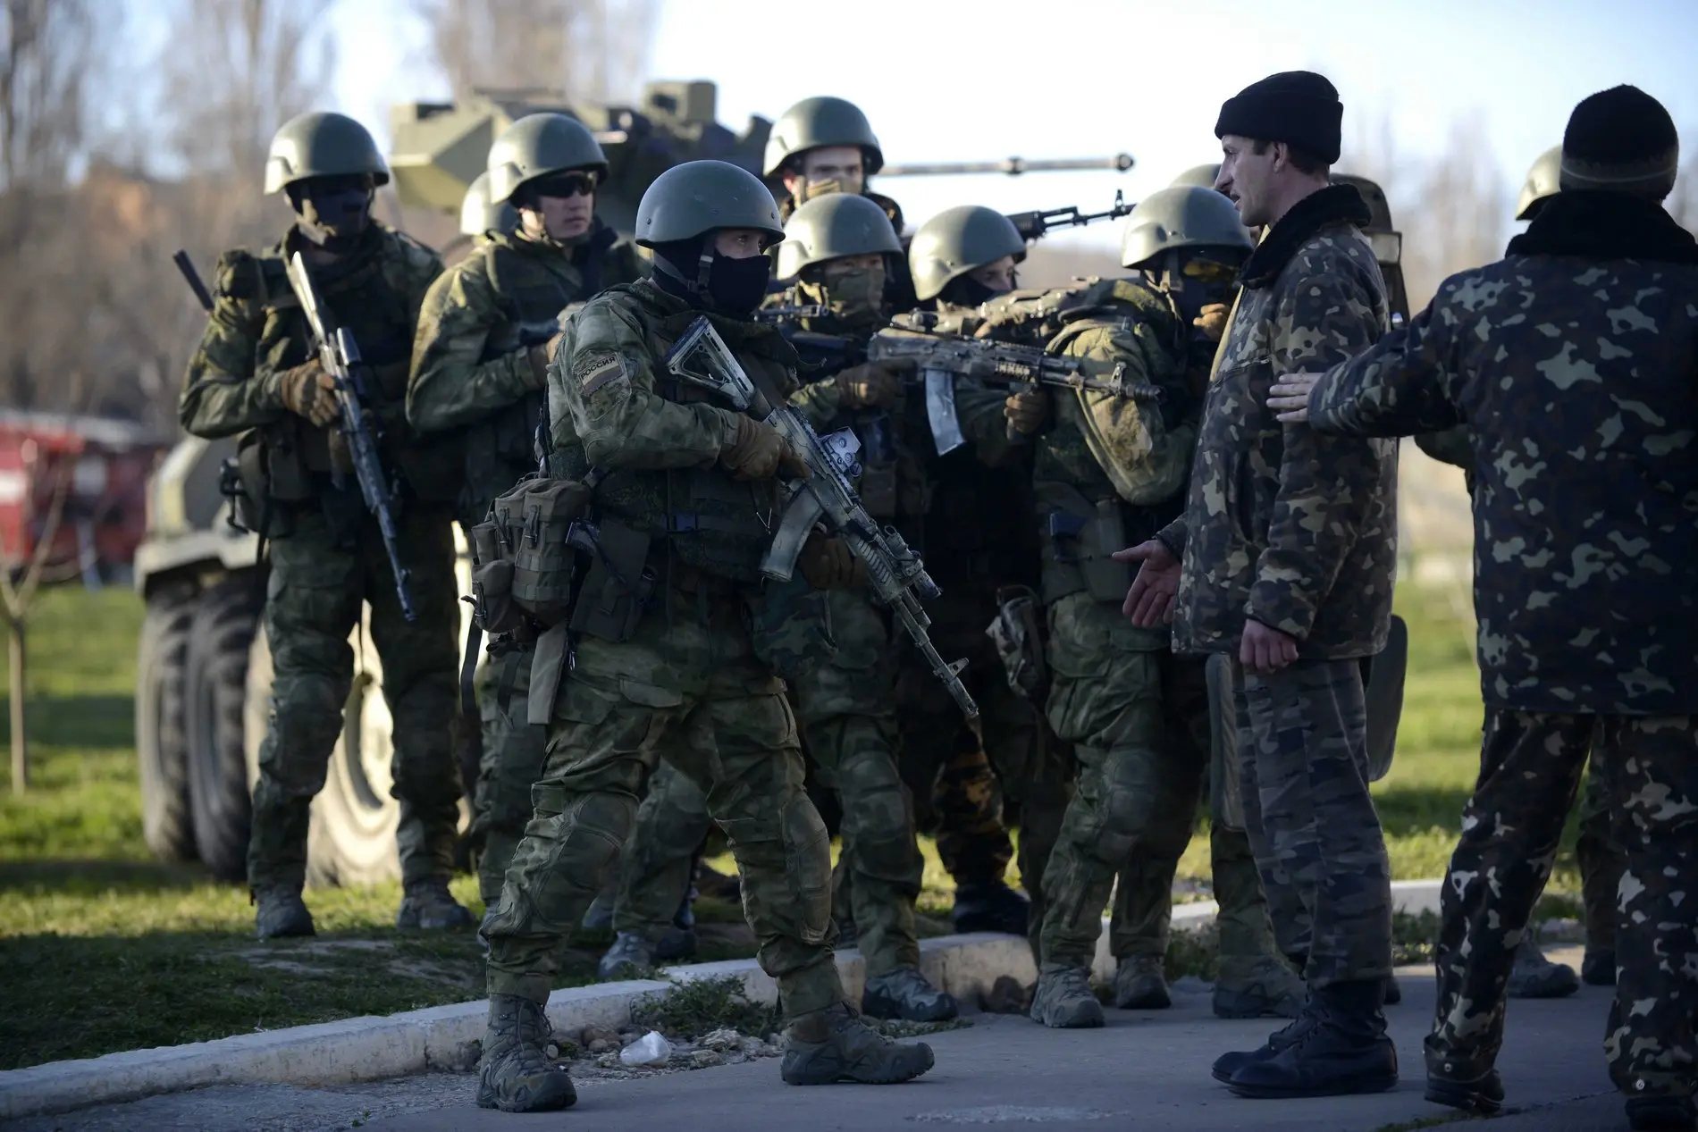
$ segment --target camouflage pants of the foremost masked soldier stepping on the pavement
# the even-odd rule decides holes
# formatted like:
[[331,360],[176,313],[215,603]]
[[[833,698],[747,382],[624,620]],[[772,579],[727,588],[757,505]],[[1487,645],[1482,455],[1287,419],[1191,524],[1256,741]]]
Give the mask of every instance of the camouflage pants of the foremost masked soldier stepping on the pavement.
[[577,643],[535,813],[484,922],[489,993],[548,1000],[560,942],[608,879],[666,759],[706,791],[725,830],[757,959],[786,1015],[824,1010],[844,998],[830,949],[830,840],[801,789],[783,684],[754,657],[740,597],[667,589],[662,601],[632,640]]

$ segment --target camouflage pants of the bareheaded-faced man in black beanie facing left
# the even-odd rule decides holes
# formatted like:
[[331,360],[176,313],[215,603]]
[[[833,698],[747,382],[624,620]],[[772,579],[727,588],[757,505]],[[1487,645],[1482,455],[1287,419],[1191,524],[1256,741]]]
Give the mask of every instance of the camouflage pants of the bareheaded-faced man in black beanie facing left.
[[1233,662],[1245,832],[1287,955],[1309,986],[1391,974],[1391,866],[1369,798],[1357,660],[1297,660],[1262,675]]

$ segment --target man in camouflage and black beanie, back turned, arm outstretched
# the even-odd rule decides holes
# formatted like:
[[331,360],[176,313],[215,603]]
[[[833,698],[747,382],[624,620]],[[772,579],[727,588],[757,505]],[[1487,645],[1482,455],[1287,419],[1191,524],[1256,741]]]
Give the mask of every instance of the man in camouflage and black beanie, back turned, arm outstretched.
[[[1679,143],[1633,87],[1562,137],[1562,192],[1408,331],[1275,387],[1282,419],[1474,440],[1481,777],[1443,886],[1428,1100],[1496,1112],[1504,983],[1588,750],[1625,842],[1605,1056],[1635,1129],[1695,1122],[1698,241]],[[1313,389],[1311,389],[1313,385]]]

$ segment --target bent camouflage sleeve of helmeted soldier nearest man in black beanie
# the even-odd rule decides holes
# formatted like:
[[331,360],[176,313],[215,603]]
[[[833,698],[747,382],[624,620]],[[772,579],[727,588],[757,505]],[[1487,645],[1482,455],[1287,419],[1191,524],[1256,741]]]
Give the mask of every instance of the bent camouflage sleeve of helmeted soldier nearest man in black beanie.
[[[1131,329],[1099,326],[1075,336],[1068,356],[1104,373],[1126,367],[1126,380],[1158,385],[1184,404],[1170,412],[1153,401],[1104,392],[1058,390],[1058,424],[1078,428],[1092,455],[1133,506],[1172,499],[1185,484],[1197,446],[1195,399],[1180,397],[1185,360],[1161,348],[1143,322]],[[1172,419],[1170,419],[1172,417]]]

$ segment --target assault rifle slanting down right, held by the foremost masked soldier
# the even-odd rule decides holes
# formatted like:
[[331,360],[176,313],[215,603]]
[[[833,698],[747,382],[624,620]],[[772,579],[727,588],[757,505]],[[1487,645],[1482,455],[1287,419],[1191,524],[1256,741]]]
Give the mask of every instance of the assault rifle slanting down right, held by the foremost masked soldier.
[[800,411],[790,407],[776,389],[757,385],[739,365],[737,355],[713,329],[705,316],[691,322],[684,336],[666,355],[666,368],[679,380],[706,387],[723,397],[739,412],[747,412],[778,429],[779,436],[808,465],[808,479],[788,485],[790,499],[779,519],[773,546],[761,562],[761,574],[790,580],[796,572],[796,555],[813,531],[815,523],[825,526],[849,545],[851,553],[866,563],[868,580],[878,599],[907,630],[915,648],[925,657],[932,674],[944,682],[949,694],[970,720],[978,716],[978,704],[961,684],[966,660],[947,662],[937,655],[937,647],[925,633],[931,618],[920,601],[937,597],[937,582],[925,572],[908,543],[891,526],[880,526],[861,506],[851,479],[859,475],[856,455],[861,441],[854,429],[841,429],[818,436]]

